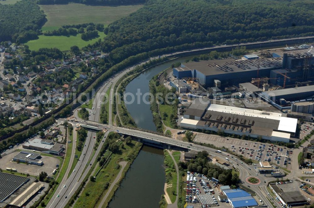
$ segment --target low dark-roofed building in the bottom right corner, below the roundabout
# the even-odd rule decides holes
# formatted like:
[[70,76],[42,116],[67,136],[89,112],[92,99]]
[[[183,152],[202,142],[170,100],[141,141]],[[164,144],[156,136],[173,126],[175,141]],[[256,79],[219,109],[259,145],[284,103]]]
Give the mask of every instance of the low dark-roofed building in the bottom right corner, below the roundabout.
[[287,207],[288,206],[300,206],[307,204],[305,196],[303,196],[299,190],[284,192],[277,184],[270,184],[270,189],[278,197],[278,199]]

